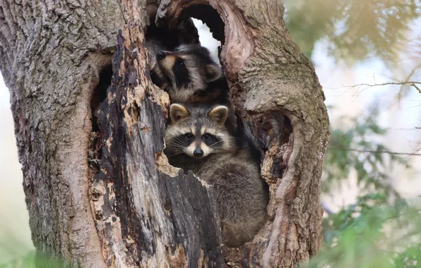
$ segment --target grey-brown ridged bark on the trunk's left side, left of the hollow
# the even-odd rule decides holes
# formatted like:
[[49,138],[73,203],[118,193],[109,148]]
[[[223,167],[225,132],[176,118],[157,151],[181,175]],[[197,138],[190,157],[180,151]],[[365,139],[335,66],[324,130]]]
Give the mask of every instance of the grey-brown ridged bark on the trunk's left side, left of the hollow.
[[89,107],[121,17],[118,1],[0,2],[0,68],[32,241],[85,267],[106,267],[87,194]]

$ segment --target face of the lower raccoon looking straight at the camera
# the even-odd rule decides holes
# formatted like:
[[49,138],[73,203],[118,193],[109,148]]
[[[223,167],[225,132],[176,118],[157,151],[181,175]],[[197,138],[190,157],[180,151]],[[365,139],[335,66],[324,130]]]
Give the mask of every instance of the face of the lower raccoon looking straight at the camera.
[[169,157],[187,154],[201,159],[209,154],[234,151],[235,142],[224,126],[227,112],[226,106],[187,109],[180,104],[172,104],[171,123],[165,132]]

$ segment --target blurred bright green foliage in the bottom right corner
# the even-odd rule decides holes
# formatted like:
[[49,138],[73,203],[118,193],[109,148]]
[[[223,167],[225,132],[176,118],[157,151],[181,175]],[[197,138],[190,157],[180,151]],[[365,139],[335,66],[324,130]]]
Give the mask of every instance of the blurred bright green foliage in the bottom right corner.
[[306,267],[420,267],[421,214],[384,194],[359,197],[323,221],[321,254]]

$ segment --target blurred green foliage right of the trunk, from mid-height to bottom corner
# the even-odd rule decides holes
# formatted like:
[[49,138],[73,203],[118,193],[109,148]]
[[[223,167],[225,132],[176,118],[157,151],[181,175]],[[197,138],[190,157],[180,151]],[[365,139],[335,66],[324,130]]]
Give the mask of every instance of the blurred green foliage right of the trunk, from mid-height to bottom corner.
[[324,218],[321,252],[306,267],[421,267],[420,205],[408,204],[390,183],[394,165],[410,166],[380,142],[387,130],[376,123],[378,114],[374,107],[343,117],[348,127],[331,130],[322,191],[330,193],[355,171],[362,196]]

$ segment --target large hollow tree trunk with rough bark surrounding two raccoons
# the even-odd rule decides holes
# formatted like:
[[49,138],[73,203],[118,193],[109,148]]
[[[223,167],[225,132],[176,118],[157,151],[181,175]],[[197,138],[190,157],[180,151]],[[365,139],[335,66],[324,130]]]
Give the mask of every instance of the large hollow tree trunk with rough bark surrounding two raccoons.
[[[221,246],[212,186],[162,153],[169,99],[146,75],[151,2],[0,2],[0,68],[37,251],[81,267],[297,267],[321,242],[328,116],[282,2],[162,0],[156,19],[179,30],[194,16],[223,42],[232,101],[265,152],[268,221],[236,249]],[[179,35],[197,42],[189,27]]]

